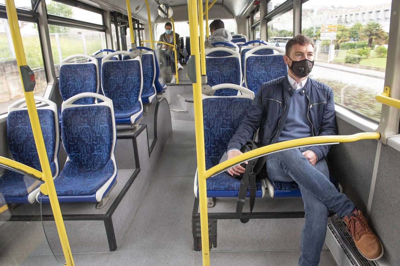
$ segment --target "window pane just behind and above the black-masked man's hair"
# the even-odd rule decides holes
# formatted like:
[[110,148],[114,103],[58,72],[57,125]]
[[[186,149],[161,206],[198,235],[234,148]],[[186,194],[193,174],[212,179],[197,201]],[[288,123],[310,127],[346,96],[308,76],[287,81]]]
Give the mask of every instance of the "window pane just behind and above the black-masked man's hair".
[[[269,43],[274,43],[273,40],[276,37],[289,37],[288,39],[293,37],[293,9],[269,21],[267,34]],[[271,40],[271,38],[273,39]],[[280,42],[275,42],[273,45],[285,47],[287,42],[285,39],[287,38],[281,38]]]

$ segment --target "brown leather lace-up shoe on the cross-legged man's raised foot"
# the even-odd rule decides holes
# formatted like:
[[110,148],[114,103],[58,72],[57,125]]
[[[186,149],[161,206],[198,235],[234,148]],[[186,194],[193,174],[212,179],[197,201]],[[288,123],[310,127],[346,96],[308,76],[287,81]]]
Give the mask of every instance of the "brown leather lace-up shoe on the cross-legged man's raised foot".
[[368,226],[364,215],[358,210],[343,217],[346,229],[352,235],[354,244],[367,260],[378,260],[383,255],[383,246],[379,238]]

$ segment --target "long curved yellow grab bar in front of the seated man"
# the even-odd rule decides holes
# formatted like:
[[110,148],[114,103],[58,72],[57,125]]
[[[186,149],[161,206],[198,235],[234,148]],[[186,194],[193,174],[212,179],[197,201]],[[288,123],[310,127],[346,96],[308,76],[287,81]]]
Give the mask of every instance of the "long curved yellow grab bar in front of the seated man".
[[208,178],[214,175],[215,173],[226,170],[232,166],[241,164],[242,162],[246,162],[249,159],[256,158],[262,156],[263,154],[268,154],[270,152],[275,152],[278,150],[288,149],[297,146],[312,145],[312,144],[324,144],[332,142],[354,142],[357,140],[378,140],[379,138],[380,134],[378,132],[367,132],[367,133],[357,133],[354,135],[346,135],[346,136],[315,136],[308,138],[299,138],[295,140],[286,140],[275,144],[267,145],[255,150],[251,150],[244,154],[240,154],[232,159],[226,160],[225,162],[217,164],[216,166],[206,170],[204,178]]

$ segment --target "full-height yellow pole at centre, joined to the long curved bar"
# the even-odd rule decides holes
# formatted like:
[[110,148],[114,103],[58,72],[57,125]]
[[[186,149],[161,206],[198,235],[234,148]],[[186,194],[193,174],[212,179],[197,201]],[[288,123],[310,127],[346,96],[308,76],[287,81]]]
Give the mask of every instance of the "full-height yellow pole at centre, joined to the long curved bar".
[[196,131],[196,153],[197,153],[197,175],[199,185],[200,203],[200,225],[203,265],[210,265],[210,249],[208,246],[208,215],[207,215],[207,191],[206,179],[206,160],[204,154],[204,126],[203,126],[203,105],[201,95],[201,73],[200,73],[200,49],[198,41],[198,16],[197,0],[188,0],[188,16],[190,29],[190,50],[195,57],[196,63],[196,82],[193,83],[193,102],[194,102],[194,124]]

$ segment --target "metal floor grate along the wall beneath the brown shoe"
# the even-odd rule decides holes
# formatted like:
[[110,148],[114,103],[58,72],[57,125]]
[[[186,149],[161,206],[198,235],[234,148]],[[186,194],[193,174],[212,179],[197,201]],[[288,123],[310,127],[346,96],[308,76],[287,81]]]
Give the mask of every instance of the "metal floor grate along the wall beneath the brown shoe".
[[340,244],[343,252],[346,254],[349,262],[354,266],[376,266],[375,262],[364,258],[352,239],[352,236],[346,230],[346,223],[343,219],[339,218],[338,215],[332,216],[330,223],[328,224],[329,230],[334,233],[336,241]]

